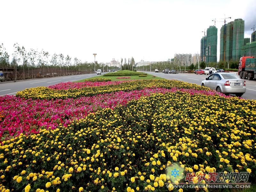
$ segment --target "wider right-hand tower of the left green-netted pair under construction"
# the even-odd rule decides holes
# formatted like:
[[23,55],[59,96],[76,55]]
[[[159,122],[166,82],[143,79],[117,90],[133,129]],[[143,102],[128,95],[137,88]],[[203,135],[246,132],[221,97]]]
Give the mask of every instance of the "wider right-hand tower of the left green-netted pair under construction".
[[217,36],[218,29],[215,26],[207,28],[206,32],[206,63],[217,62]]

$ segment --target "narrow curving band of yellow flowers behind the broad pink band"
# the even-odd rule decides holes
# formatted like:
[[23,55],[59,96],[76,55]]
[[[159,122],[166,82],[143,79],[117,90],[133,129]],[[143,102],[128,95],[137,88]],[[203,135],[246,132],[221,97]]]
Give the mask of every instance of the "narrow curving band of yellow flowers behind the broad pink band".
[[26,89],[24,91],[17,92],[16,96],[23,97],[26,99],[67,99],[67,98],[78,98],[85,96],[93,96],[97,94],[105,94],[111,92],[125,91],[129,92],[132,90],[141,90],[145,88],[186,88],[196,90],[210,90],[206,87],[201,87],[196,84],[190,84],[186,82],[180,82],[176,80],[138,80],[138,81],[123,81],[118,85],[106,85],[96,87],[84,87],[80,89],[68,89],[68,90],[55,90],[47,87],[36,87]]

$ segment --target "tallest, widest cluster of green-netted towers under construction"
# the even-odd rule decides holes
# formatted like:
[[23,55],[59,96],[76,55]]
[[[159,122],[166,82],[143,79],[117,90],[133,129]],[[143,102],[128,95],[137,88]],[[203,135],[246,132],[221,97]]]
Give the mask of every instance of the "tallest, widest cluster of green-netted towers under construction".
[[[247,39],[245,40],[247,41]],[[220,61],[239,61],[244,45],[244,20],[235,19],[220,29]]]

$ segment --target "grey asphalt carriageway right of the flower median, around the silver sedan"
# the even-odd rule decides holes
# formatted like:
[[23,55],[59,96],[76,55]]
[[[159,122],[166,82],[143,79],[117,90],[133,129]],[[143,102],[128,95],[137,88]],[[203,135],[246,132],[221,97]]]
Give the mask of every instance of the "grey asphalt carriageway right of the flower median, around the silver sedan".
[[[165,74],[165,73],[155,73],[155,72],[147,72],[148,74],[155,75],[158,77],[162,77],[165,79],[174,79],[179,81],[184,81],[188,83],[193,83],[197,85],[201,85],[202,81],[208,77],[208,75],[196,75],[196,74]],[[256,100],[256,80],[245,80],[246,81],[246,92],[242,95],[241,98]]]

